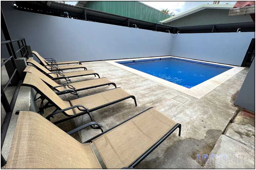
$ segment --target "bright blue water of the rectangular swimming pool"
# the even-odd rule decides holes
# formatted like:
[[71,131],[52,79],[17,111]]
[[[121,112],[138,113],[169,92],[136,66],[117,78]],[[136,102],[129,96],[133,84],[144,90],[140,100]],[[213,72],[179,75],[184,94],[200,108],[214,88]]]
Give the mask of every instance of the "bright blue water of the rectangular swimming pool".
[[134,60],[117,63],[189,89],[233,68],[176,58]]

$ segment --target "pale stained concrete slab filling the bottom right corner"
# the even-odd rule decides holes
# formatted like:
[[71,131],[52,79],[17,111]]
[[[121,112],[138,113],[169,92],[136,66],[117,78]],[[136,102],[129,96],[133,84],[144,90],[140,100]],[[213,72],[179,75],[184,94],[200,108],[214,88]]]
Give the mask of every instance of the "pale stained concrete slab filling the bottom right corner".
[[255,169],[255,148],[221,135],[204,169]]

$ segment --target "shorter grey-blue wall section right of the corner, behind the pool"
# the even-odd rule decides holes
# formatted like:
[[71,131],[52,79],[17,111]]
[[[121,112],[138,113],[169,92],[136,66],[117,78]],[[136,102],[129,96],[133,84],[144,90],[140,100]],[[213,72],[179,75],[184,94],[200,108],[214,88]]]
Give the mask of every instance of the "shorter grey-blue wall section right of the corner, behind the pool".
[[172,56],[241,66],[255,32],[172,34]]

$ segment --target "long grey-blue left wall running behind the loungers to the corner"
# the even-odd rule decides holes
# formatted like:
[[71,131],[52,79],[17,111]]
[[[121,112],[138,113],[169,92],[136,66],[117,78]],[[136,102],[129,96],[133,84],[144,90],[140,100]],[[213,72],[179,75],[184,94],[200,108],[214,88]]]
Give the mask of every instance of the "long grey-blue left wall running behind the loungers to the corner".
[[18,11],[1,2],[11,38],[57,61],[170,55],[171,34]]

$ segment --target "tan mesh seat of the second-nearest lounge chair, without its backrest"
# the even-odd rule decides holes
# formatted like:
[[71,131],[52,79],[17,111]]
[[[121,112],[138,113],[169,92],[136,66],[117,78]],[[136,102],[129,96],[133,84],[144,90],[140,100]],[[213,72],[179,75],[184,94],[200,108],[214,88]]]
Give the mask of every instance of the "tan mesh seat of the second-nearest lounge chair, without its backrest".
[[[111,103],[114,101],[117,101],[119,99],[122,99],[124,97],[128,97],[130,94],[126,91],[124,91],[121,88],[115,88],[107,91],[103,91],[97,94],[77,98],[74,100],[71,100],[70,103],[75,106],[75,105],[83,105],[84,107],[90,109],[102,106],[107,103]],[[77,108],[74,109],[75,114],[80,113]]]

